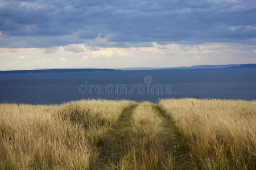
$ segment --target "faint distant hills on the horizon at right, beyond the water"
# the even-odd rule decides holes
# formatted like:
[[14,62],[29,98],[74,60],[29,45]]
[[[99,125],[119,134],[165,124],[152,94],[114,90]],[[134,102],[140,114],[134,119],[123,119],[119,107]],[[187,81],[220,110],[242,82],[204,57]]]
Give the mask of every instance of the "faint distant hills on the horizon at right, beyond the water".
[[231,65],[196,65],[191,67],[130,67],[121,70],[181,70],[181,69],[225,69],[238,67],[256,67],[255,63],[250,64],[231,64]]

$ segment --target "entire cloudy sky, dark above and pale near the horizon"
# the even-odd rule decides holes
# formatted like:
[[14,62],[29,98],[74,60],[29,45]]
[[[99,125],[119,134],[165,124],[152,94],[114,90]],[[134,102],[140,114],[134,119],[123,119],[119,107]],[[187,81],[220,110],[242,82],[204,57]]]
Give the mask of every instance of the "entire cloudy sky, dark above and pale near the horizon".
[[255,0],[0,1],[0,70],[256,63]]

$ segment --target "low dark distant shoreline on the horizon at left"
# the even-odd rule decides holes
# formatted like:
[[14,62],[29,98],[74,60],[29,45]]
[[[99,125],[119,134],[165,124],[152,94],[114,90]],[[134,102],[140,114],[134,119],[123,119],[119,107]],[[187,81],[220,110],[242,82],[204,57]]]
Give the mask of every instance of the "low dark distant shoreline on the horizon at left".
[[116,69],[41,69],[41,70],[10,70],[0,71],[0,74],[15,73],[67,73],[67,72],[121,71]]

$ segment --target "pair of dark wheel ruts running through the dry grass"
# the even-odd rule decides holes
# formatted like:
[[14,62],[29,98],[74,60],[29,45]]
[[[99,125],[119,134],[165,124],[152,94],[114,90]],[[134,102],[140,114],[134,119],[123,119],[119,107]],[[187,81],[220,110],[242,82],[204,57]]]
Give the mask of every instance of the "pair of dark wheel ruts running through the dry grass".
[[[118,169],[118,163],[121,158],[121,150],[123,143],[127,139],[129,128],[131,126],[131,115],[137,105],[124,109],[116,124],[110,129],[105,137],[105,145],[101,147],[101,154],[97,161],[96,167],[92,169]],[[162,119],[163,128],[166,134],[170,137],[170,150],[175,155],[175,169],[190,169],[188,156],[185,152],[185,147],[181,141],[179,131],[175,126],[172,117],[163,111],[159,105],[153,105],[155,113]]]

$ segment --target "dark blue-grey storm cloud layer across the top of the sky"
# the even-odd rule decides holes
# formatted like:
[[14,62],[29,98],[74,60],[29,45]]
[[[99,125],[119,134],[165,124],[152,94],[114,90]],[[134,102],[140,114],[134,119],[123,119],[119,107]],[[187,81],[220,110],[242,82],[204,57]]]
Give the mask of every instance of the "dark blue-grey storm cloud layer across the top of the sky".
[[1,1],[0,46],[247,42],[255,21],[249,0]]

